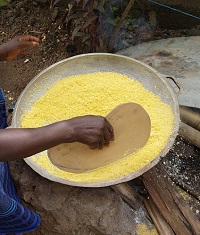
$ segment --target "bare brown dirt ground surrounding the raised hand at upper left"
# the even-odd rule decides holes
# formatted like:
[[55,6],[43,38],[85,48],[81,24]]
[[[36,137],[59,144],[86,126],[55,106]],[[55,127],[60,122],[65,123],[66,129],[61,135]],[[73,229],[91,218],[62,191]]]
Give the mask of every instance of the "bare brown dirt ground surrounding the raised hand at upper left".
[[41,70],[68,57],[66,32],[58,29],[59,21],[49,19],[49,9],[40,5],[15,1],[11,8],[0,9],[1,43],[20,35],[40,38],[40,46],[12,62],[1,62],[1,87],[4,89],[7,108],[15,104],[27,83]]

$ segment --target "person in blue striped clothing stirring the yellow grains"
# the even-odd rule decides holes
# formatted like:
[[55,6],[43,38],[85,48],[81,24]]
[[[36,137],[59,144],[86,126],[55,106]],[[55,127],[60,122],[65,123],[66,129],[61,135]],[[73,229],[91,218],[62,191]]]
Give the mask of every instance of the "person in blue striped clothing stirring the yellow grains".
[[[0,60],[10,61],[39,45],[30,35],[0,45]],[[37,213],[24,207],[14,188],[8,161],[29,157],[61,143],[80,142],[103,148],[114,138],[111,124],[102,116],[86,115],[39,128],[7,128],[3,89],[0,89],[0,234],[22,234],[40,224]]]

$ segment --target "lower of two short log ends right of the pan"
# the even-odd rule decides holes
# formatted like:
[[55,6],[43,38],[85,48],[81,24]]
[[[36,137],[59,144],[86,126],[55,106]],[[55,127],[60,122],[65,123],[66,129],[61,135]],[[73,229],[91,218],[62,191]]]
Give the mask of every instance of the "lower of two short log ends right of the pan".
[[194,144],[200,148],[200,132],[191,126],[180,122],[179,125],[179,135],[186,139],[191,144]]

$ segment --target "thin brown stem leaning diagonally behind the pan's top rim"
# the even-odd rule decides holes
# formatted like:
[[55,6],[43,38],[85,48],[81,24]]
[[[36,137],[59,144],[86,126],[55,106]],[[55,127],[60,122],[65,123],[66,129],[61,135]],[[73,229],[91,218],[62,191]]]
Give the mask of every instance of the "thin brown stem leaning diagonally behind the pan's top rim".
[[126,19],[129,11],[131,10],[131,7],[133,6],[135,0],[130,0],[126,9],[124,10],[123,14],[122,14],[122,17],[120,18],[120,21],[119,23],[117,24],[111,38],[110,38],[110,42],[109,42],[109,45],[108,45],[108,51],[109,52],[113,52],[113,48],[114,48],[114,43],[115,43],[115,38],[117,36],[117,33],[119,32],[122,24],[124,23],[124,20]]

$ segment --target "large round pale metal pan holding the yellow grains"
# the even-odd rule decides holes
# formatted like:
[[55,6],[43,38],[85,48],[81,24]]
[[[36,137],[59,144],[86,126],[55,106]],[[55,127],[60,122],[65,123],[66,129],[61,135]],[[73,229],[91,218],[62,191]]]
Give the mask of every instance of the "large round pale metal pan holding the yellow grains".
[[[45,178],[63,184],[81,187],[103,187],[125,182],[140,176],[141,174],[155,166],[159,162],[160,157],[167,154],[174,143],[179,129],[179,108],[176,94],[174,93],[170,84],[168,84],[163,76],[156,70],[140,61],[116,54],[82,54],[62,60],[43,70],[35,78],[32,79],[32,81],[26,86],[26,88],[20,95],[16,104],[16,108],[14,110],[12,126],[15,128],[21,127],[21,116],[31,108],[33,103],[41,95],[43,95],[54,82],[62,78],[77,74],[111,71],[126,74],[130,78],[138,80],[144,85],[147,90],[154,92],[154,94],[159,96],[163,102],[171,106],[175,118],[174,128],[169,139],[167,140],[166,146],[162,149],[160,154],[150,164],[131,174],[127,174],[118,179],[106,180],[101,182],[79,183],[68,181],[50,175],[46,170],[42,169],[36,163],[34,163],[31,158],[24,159],[26,163],[30,167],[32,167],[33,170],[35,170],[37,173]],[[157,86],[156,90],[154,89],[155,86]]]

